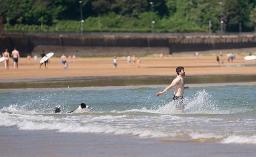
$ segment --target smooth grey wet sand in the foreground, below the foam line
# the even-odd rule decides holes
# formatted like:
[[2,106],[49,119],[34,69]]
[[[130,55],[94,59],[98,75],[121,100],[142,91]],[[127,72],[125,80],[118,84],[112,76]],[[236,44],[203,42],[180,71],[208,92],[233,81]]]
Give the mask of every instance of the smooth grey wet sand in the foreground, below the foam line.
[[[12,134],[10,134],[10,132]],[[174,141],[160,138],[113,136],[112,134],[61,133],[55,130],[18,130],[2,127],[2,156],[35,157],[239,157],[255,155],[252,144],[226,144],[201,141]],[[17,139],[19,142],[17,142]],[[96,149],[95,149],[96,148]],[[114,149],[113,149],[114,148]]]

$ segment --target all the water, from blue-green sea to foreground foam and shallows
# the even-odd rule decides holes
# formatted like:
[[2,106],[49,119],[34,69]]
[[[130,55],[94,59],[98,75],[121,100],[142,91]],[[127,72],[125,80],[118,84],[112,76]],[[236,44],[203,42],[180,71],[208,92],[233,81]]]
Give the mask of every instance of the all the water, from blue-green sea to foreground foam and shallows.
[[[256,85],[194,85],[184,112],[171,101],[173,89],[156,96],[165,87],[0,90],[0,152],[83,156],[77,149],[94,144],[88,156],[256,156]],[[68,113],[80,103],[89,109]]]

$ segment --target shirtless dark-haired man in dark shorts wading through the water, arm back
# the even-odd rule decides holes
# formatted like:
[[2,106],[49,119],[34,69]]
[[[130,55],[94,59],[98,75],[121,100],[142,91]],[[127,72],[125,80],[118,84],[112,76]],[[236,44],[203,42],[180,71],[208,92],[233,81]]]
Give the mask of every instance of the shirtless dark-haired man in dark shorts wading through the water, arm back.
[[163,93],[167,92],[171,88],[175,87],[174,90],[174,95],[173,95],[173,100],[176,103],[176,107],[178,110],[183,111],[184,110],[184,103],[183,103],[183,94],[184,94],[184,89],[188,89],[189,87],[185,87],[185,70],[183,66],[178,66],[176,68],[177,72],[177,77],[171,82],[171,84],[164,89],[164,91],[157,93],[157,96],[162,95]]

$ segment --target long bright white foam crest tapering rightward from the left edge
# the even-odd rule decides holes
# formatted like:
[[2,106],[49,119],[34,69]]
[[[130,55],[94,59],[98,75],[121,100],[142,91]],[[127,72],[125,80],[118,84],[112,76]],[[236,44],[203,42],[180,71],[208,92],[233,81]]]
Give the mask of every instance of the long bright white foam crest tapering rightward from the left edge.
[[[18,116],[18,115],[16,115]],[[16,125],[20,130],[58,130],[58,132],[82,133],[113,133],[131,134],[139,137],[170,137],[175,133],[163,132],[155,129],[139,129],[126,126],[113,126],[110,124],[83,124],[73,121],[54,120],[53,117],[29,116],[13,118],[9,113],[0,113],[0,126]]]

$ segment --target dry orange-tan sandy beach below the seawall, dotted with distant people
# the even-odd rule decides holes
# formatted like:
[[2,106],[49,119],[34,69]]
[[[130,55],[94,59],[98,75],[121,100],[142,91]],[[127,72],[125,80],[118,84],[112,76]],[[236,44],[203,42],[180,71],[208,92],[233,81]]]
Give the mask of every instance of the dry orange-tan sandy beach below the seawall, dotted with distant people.
[[[14,70],[13,59],[9,61],[9,71],[4,69],[4,63],[0,63],[0,79],[16,78],[55,78],[66,76],[151,76],[151,75],[176,75],[175,68],[184,66],[186,75],[243,75],[256,74],[256,61],[245,61],[244,56],[236,56],[233,62],[227,62],[226,56],[220,57],[217,63],[215,56],[168,56],[140,57],[141,67],[137,64],[127,64],[125,57],[117,57],[117,68],[113,69],[113,58],[76,58],[76,61],[68,61],[68,69],[64,69],[58,57],[50,58],[48,69],[42,65],[39,69],[39,61],[27,58],[20,58],[19,69]],[[223,64],[222,61],[224,62]]]

